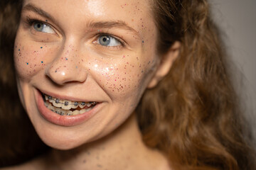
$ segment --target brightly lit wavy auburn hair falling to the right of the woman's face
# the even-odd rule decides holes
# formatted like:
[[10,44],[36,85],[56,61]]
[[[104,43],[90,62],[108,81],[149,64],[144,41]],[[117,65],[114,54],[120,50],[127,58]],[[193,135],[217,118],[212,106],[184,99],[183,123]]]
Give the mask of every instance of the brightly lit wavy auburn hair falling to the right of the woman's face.
[[181,51],[169,74],[137,108],[144,142],[174,169],[255,169],[228,59],[206,0],[154,0],[159,53]]

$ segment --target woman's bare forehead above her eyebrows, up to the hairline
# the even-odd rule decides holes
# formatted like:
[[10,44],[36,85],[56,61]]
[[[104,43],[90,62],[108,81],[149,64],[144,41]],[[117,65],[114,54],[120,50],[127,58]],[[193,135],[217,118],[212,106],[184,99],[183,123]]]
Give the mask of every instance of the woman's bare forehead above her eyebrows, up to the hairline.
[[57,21],[70,25],[88,21],[122,21],[143,36],[146,28],[155,28],[149,0],[25,0],[23,6],[33,4]]

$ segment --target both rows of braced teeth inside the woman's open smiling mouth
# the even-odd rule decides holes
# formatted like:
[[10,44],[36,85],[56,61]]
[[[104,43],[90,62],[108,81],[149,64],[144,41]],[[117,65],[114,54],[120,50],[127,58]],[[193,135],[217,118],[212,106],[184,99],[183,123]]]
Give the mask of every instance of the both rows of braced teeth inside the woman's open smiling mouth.
[[59,115],[79,115],[92,110],[97,105],[95,101],[66,101],[46,94],[42,96],[46,108]]

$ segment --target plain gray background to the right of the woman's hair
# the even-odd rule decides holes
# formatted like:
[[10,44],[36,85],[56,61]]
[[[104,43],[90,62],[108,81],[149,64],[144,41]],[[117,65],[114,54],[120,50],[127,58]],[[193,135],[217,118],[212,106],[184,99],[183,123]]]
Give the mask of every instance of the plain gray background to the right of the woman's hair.
[[256,147],[256,1],[209,0],[234,62],[235,87],[250,122]]

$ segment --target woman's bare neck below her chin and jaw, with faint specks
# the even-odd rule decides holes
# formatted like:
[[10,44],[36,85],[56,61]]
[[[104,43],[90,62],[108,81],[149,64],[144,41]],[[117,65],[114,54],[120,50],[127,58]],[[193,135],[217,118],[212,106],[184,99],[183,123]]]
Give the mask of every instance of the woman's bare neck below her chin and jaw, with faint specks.
[[107,137],[61,151],[53,149],[47,155],[48,169],[159,169],[168,166],[166,159],[142,141],[133,114]]

